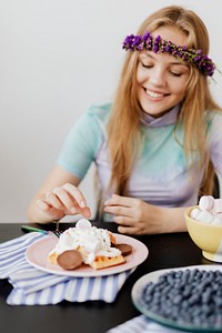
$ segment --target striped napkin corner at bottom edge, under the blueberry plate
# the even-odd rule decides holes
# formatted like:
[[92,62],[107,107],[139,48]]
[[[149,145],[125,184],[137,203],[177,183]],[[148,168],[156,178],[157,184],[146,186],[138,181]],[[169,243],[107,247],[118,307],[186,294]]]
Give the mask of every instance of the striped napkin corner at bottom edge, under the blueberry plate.
[[[107,333],[148,333],[148,332],[149,333],[176,333],[182,331],[162,326],[158,323],[152,322],[151,320],[149,320],[142,314],[137,317],[133,317],[130,321],[127,321],[121,325],[118,325],[114,329],[109,330]],[[192,332],[190,331],[190,333]]]

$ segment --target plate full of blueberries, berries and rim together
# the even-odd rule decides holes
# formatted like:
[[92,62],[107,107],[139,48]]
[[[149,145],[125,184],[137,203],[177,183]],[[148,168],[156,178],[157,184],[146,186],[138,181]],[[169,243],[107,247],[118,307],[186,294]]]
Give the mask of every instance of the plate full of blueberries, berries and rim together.
[[221,264],[148,273],[134,283],[131,296],[148,323],[161,324],[157,332],[162,332],[162,326],[192,333],[222,332]]

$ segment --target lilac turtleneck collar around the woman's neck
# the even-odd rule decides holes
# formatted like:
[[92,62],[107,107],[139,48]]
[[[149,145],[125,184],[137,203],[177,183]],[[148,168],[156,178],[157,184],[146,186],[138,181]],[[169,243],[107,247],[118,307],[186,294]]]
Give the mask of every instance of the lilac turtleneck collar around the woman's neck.
[[181,109],[181,104],[179,103],[178,105],[172,108],[169,112],[167,112],[160,118],[154,118],[143,111],[141,117],[141,123],[148,128],[160,128],[160,127],[173,124],[176,122],[178,113],[180,109]]

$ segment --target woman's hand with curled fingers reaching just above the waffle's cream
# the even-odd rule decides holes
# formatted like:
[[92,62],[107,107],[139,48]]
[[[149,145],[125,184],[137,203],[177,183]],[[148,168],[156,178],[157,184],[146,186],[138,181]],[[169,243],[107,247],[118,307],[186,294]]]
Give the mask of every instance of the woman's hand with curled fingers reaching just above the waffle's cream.
[[70,183],[54,188],[44,198],[37,200],[36,204],[51,221],[60,220],[64,215],[82,214],[87,219],[91,216],[82,192]]

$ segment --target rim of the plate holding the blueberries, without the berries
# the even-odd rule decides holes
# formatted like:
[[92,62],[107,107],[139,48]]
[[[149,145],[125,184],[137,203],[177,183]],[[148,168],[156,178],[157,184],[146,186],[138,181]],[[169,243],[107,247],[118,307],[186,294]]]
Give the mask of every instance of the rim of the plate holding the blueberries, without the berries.
[[[164,326],[174,329],[174,330],[180,330],[180,331],[185,331],[185,332],[222,332],[222,327],[220,329],[213,329],[213,327],[198,327],[194,326],[192,324],[179,324],[178,322],[174,322],[172,320],[168,320],[154,312],[149,311],[141,302],[141,294],[142,294],[142,290],[145,287],[145,285],[150,282],[157,282],[159,280],[159,278],[162,274],[165,274],[170,271],[179,271],[179,270],[211,270],[211,271],[215,271],[215,270],[220,270],[222,271],[222,265],[192,265],[192,266],[184,266],[184,268],[178,268],[178,269],[165,269],[165,270],[160,270],[160,271],[154,271],[151,273],[148,273],[145,275],[143,275],[142,278],[140,278],[133,285],[132,287],[132,293],[131,293],[131,297],[132,297],[132,302],[134,304],[134,306],[142,313],[144,314],[147,317],[149,317],[150,320],[162,324]],[[180,306],[180,305],[179,305]],[[176,331],[178,332],[178,331]]]

